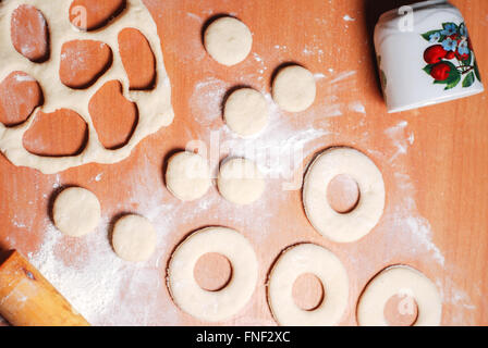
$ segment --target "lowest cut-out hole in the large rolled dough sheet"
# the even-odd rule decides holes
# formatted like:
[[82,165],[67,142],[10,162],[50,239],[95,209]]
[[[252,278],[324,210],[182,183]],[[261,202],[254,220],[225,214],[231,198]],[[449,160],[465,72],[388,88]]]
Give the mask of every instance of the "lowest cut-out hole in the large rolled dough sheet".
[[70,157],[83,152],[88,141],[88,126],[76,112],[60,109],[39,112],[22,139],[24,148],[41,157]]

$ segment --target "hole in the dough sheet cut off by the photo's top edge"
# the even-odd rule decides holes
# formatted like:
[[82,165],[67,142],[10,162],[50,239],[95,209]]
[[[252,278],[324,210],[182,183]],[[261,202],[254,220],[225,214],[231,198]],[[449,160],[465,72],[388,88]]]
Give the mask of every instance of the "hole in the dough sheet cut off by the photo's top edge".
[[126,0],[74,0],[70,22],[81,30],[96,30],[108,25],[126,9]]

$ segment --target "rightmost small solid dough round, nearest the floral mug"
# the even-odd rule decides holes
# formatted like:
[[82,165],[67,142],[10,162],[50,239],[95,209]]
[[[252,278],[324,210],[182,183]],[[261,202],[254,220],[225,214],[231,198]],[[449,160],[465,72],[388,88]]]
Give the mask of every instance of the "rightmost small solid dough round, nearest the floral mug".
[[289,112],[307,110],[314,103],[316,94],[314,75],[300,65],[280,70],[272,84],[272,98]]

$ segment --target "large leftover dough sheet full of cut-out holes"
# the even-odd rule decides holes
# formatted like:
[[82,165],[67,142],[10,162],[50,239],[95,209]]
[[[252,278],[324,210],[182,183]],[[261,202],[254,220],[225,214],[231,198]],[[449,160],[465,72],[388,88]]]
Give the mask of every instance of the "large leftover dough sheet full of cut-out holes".
[[[36,108],[23,124],[15,127],[5,127],[0,123],[0,150],[17,166],[29,166],[45,174],[53,174],[66,169],[86,163],[117,163],[131,154],[137,144],[146,136],[156,133],[173,121],[171,107],[171,87],[164,70],[161,42],[157,35],[157,27],[150,13],[142,0],[127,0],[126,9],[113,22],[100,30],[81,32],[69,21],[72,0],[45,1],[30,0],[29,5],[38,9],[50,30],[50,59],[44,63],[33,63],[20,54],[13,47],[10,34],[10,18],[13,11],[25,1],[0,1],[0,80],[11,72],[22,71],[39,82],[44,94],[44,105]],[[126,27],[133,27],[144,34],[155,55],[156,87],[152,90],[130,90],[129,77],[124,71],[119,52],[118,34]],[[113,53],[113,63],[98,80],[86,89],[71,89],[61,83],[59,66],[61,47],[71,40],[97,40],[107,44]],[[129,142],[117,150],[106,149],[98,139],[88,103],[91,97],[110,80],[121,80],[123,96],[137,104],[138,124]],[[30,127],[39,112],[52,113],[59,109],[71,109],[78,113],[88,126],[88,142],[78,156],[72,157],[40,157],[28,152],[23,147],[23,136]]]

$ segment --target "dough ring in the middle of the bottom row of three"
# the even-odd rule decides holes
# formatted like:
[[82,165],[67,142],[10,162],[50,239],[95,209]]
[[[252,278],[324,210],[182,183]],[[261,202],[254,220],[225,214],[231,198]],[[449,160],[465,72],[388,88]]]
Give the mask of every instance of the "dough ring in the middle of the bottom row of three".
[[[304,273],[317,276],[324,286],[324,301],[313,311],[293,300],[293,284]],[[276,262],[268,284],[268,303],[280,325],[329,326],[342,319],[347,307],[349,278],[342,262],[329,250],[302,244],[285,250]]]

